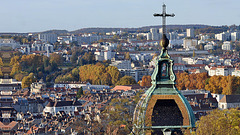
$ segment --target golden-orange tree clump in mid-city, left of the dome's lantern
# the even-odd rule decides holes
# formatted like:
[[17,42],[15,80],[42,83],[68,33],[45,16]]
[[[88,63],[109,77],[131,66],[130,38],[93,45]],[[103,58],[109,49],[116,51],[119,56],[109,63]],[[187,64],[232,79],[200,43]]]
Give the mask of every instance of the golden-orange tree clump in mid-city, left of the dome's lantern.
[[118,68],[115,66],[105,66],[104,64],[88,64],[78,68],[74,68],[72,71],[59,75],[55,79],[55,83],[60,82],[89,82],[94,85],[132,85],[136,84],[136,81],[131,76],[122,77]]

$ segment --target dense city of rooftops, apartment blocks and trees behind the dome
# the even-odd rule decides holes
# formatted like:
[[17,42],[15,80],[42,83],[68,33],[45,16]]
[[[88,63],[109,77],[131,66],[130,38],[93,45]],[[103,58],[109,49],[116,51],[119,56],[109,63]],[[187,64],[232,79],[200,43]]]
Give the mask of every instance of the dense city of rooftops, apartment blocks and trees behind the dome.
[[[0,33],[0,134],[133,133],[162,35],[160,26]],[[196,121],[240,107],[240,26],[169,25],[167,38]]]

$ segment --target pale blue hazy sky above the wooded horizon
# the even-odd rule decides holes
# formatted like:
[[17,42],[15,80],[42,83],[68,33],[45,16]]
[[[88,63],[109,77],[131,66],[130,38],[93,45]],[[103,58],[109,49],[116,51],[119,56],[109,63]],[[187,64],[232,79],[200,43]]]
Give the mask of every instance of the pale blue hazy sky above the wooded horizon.
[[0,32],[160,25],[163,2],[167,24],[240,23],[240,0],[1,0]]

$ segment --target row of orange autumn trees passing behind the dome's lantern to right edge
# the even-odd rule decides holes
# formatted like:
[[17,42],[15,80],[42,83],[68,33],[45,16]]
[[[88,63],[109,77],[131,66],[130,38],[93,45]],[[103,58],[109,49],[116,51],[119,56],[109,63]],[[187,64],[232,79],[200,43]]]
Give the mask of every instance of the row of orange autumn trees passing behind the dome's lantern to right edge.
[[[176,73],[178,90],[205,89],[211,93],[232,95],[240,94],[240,77],[238,76],[208,76],[207,73],[188,74]],[[141,86],[151,86],[151,76],[143,76]]]

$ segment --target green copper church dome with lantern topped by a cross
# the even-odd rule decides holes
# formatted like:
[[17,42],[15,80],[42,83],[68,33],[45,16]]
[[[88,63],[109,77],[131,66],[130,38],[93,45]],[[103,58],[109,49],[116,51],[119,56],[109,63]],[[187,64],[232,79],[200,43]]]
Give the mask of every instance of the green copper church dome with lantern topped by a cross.
[[[163,18],[163,37],[160,41],[161,54],[156,59],[152,74],[152,86],[142,95],[134,112],[134,130],[137,135],[183,134],[182,129],[195,127],[195,117],[186,98],[175,87],[173,60],[168,55],[169,40],[166,36],[166,5],[163,13],[154,14]],[[190,132],[190,130],[189,130]]]

